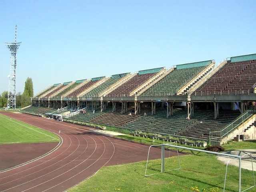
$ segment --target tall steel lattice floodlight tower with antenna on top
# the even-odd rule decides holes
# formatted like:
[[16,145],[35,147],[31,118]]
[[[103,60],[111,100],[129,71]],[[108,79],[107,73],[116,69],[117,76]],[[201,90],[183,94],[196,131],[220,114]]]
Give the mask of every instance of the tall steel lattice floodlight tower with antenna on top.
[[7,108],[16,109],[16,54],[21,42],[16,42],[17,25],[15,26],[15,41],[12,43],[5,43],[6,47],[11,52],[9,90]]

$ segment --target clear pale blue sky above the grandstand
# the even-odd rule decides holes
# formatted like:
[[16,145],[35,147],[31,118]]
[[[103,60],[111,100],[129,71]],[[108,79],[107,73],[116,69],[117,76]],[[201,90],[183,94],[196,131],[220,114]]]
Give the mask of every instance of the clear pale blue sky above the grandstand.
[[[255,0],[1,0],[0,42],[22,42],[16,92],[256,53]],[[0,45],[0,93],[10,52]]]

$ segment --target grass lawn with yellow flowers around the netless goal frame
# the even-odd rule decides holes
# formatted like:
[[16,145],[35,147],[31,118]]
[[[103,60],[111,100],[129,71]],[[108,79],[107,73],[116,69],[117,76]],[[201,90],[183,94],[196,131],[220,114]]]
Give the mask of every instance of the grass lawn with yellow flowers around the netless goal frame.
[[[256,148],[255,142],[239,142],[224,145],[224,148]],[[215,155],[196,152],[193,155],[180,156],[181,169],[144,177],[146,162],[108,166],[82,182],[69,192],[84,191],[124,191],[124,192],[222,192],[226,165],[217,160]],[[160,160],[152,160],[147,174],[161,170]],[[178,158],[166,158],[165,170],[178,168]],[[239,169],[228,167],[225,192],[238,191]],[[242,190],[253,186],[253,173],[242,169]],[[254,191],[255,187],[248,190]]]

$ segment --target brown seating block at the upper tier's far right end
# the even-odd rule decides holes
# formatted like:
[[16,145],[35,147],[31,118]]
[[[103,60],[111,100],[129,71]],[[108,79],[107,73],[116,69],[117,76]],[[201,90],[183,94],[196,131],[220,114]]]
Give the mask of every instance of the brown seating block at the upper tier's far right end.
[[230,62],[220,68],[196,92],[202,94],[248,93],[256,83],[256,60]]

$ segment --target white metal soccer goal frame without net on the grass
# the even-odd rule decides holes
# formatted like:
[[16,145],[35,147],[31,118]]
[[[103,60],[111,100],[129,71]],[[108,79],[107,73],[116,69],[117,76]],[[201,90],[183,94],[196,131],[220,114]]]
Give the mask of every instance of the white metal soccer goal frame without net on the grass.
[[[226,173],[225,173],[225,179],[224,179],[224,187],[223,187],[223,192],[225,192],[225,186],[226,186],[226,179],[227,179],[227,172],[228,172],[228,164],[231,162],[231,161],[234,161],[234,160],[239,160],[239,175],[238,175],[238,179],[239,179],[239,183],[238,183],[238,192],[244,192],[250,188],[253,188],[255,186],[255,178],[254,178],[254,170],[253,170],[253,161],[252,161],[252,155],[251,154],[245,154],[245,155],[242,155],[242,156],[239,156],[239,155],[232,155],[232,154],[225,154],[225,153],[219,153],[219,152],[212,152],[212,151],[207,151],[207,150],[201,150],[201,149],[196,149],[196,148],[188,148],[188,147],[183,147],[183,146],[178,146],[177,144],[174,145],[176,143],[170,143],[170,144],[159,144],[159,145],[152,145],[149,147],[149,150],[148,150],[148,158],[147,158],[147,162],[146,162],[146,170],[145,170],[145,177],[147,176],[151,176],[151,175],[154,175],[154,174],[158,174],[158,173],[162,173],[162,172],[166,172],[165,171],[165,152],[166,152],[166,148],[175,148],[177,150],[177,156],[178,156],[178,167],[177,168],[174,168],[172,170],[168,170],[168,171],[173,171],[173,170],[178,170],[178,169],[181,169],[181,166],[180,166],[180,157],[179,157],[179,152],[178,152],[178,149],[183,149],[183,150],[190,150],[190,151],[196,151],[196,152],[204,152],[204,153],[209,153],[209,154],[215,154],[215,155],[218,155],[218,156],[228,156],[232,159],[228,160],[227,164],[226,164]],[[162,146],[162,150],[161,150],[161,171],[158,172],[158,173],[154,173],[154,174],[148,174],[147,175],[147,169],[148,169],[148,160],[149,160],[149,155],[150,155],[150,149],[154,146]],[[242,180],[242,176],[241,176],[241,168],[242,168],[242,159],[245,158],[245,156],[248,156],[250,158],[250,161],[252,163],[252,178],[253,178],[253,185],[250,186],[249,188],[241,191],[241,180]]]

